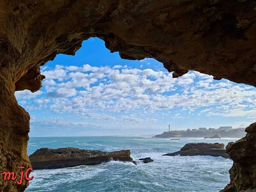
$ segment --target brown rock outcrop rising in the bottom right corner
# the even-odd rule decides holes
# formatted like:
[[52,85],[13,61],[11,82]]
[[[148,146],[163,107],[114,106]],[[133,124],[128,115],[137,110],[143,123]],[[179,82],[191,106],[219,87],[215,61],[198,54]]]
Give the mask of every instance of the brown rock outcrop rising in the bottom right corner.
[[230,184],[221,192],[256,190],[256,123],[245,131],[247,134],[244,138],[228,143],[226,147],[234,163],[229,170]]

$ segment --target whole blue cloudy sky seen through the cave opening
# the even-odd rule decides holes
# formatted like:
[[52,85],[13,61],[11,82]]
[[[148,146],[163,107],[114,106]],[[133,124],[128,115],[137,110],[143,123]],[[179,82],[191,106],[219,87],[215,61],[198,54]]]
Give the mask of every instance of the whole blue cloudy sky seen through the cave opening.
[[256,88],[189,71],[172,78],[150,58],[122,60],[99,38],[75,56],[58,54],[41,67],[41,90],[15,92],[31,116],[29,136],[161,134],[256,119]]

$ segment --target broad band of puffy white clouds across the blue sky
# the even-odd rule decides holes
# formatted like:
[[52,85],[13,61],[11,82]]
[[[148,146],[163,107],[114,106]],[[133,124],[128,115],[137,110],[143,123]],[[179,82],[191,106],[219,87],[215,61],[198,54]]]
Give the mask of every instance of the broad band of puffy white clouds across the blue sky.
[[[147,62],[145,59],[141,62]],[[255,88],[212,76],[189,72],[177,79],[165,71],[122,67],[82,67],[61,65],[44,68],[44,92],[17,92],[17,99],[35,99],[38,108],[54,113],[75,113],[84,118],[142,122],[147,117],[124,115],[138,111],[156,113],[182,108],[193,115],[246,116],[254,118]],[[29,102],[22,101],[24,106]],[[251,106],[251,109],[248,109]],[[207,109],[202,109],[207,108]],[[237,109],[239,108],[239,109]],[[183,118],[182,111],[172,118]],[[120,115],[122,114],[122,115]],[[151,118],[152,119],[152,118]]]

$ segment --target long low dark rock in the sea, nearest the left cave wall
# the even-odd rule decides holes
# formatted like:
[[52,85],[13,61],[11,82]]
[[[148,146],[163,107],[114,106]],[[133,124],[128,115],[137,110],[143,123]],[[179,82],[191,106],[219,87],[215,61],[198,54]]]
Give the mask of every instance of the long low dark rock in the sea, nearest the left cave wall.
[[130,150],[102,152],[100,150],[84,150],[79,148],[40,148],[29,160],[33,170],[66,168],[79,165],[95,165],[108,161],[132,162]]

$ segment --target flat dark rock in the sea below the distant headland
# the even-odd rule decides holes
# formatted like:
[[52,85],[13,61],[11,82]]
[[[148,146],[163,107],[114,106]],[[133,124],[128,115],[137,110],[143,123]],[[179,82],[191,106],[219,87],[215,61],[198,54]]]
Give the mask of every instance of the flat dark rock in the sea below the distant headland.
[[188,143],[178,152],[164,154],[163,156],[213,156],[230,158],[224,149],[223,143]]

